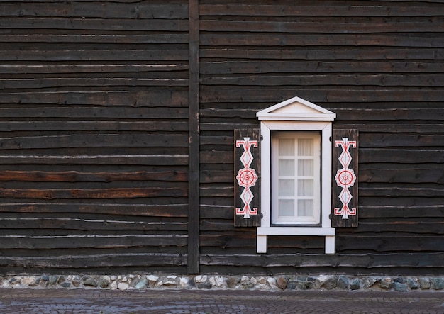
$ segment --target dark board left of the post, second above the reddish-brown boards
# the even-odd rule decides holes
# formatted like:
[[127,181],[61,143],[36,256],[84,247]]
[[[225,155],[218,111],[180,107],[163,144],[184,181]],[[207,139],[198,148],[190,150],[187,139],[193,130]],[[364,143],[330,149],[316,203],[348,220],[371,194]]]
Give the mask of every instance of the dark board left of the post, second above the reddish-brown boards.
[[0,150],[63,147],[188,147],[187,135],[78,134],[0,138]]

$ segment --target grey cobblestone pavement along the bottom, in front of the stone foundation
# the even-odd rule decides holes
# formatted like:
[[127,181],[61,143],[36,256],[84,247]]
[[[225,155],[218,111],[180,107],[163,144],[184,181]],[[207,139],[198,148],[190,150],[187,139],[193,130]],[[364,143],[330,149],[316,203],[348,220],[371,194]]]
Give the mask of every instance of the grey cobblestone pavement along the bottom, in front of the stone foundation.
[[444,292],[0,289],[0,313],[444,313]]

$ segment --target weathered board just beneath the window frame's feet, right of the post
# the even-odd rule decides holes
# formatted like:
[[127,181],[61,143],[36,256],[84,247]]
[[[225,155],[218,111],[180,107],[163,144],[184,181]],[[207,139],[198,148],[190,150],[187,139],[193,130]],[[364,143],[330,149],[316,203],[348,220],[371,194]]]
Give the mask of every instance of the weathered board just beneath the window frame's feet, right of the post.
[[202,254],[202,265],[233,267],[394,267],[432,268],[444,266],[444,253],[385,254]]

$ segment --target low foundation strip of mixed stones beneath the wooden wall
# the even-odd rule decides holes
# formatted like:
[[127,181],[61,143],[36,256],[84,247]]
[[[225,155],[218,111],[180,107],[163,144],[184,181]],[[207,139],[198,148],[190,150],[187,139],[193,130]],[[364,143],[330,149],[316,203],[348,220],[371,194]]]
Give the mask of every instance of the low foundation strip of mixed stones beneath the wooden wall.
[[342,291],[443,291],[444,277],[428,276],[222,276],[128,274],[106,276],[0,276],[0,288],[98,288],[111,290],[257,289]]

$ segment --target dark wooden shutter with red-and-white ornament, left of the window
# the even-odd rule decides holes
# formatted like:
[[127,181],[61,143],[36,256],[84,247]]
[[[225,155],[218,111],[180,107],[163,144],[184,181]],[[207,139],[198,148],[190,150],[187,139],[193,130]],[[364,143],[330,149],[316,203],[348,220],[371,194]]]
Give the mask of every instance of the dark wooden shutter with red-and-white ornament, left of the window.
[[235,227],[260,226],[260,129],[234,130]]

